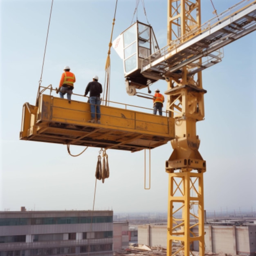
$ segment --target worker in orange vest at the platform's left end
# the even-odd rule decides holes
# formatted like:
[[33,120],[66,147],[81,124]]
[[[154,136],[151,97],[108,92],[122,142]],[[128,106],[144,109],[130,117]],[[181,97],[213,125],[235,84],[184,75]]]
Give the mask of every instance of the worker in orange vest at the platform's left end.
[[59,94],[61,99],[64,98],[64,95],[67,93],[68,102],[71,103],[71,94],[74,89],[74,82],[76,81],[75,75],[70,72],[70,67],[64,67],[64,73],[61,76],[61,81],[59,85]]

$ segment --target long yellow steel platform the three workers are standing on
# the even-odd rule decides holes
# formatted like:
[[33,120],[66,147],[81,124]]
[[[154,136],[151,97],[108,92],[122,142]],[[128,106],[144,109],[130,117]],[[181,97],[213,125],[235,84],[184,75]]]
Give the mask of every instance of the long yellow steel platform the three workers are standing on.
[[88,120],[89,103],[41,94],[38,107],[23,105],[20,139],[134,152],[174,138],[171,117],[101,105],[101,124]]

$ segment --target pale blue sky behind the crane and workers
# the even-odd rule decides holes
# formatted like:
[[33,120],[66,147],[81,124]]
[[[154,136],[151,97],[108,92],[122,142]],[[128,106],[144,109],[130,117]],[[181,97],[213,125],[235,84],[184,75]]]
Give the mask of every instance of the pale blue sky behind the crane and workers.
[[[54,0],[42,85],[58,85],[63,67],[76,74],[74,93],[92,76],[104,84],[115,0]],[[166,45],[167,0],[144,0],[160,47]],[[202,22],[213,17],[202,2]],[[213,0],[218,13],[238,1]],[[51,0],[1,1],[0,211],[92,209],[99,149],[71,157],[65,145],[20,141],[22,105],[34,105],[43,64]],[[146,22],[142,4],[119,0],[113,39],[132,21]],[[199,151],[207,162],[207,211],[256,211],[256,32],[224,48],[221,63],[203,71],[205,120],[197,123]],[[111,49],[110,100],[152,108],[152,101],[126,94],[122,61]],[[152,91],[167,89],[157,82]],[[146,93],[146,91],[141,91]],[[75,98],[73,98],[75,99]],[[85,98],[83,98],[85,100]],[[73,154],[83,148],[71,146]],[[165,161],[171,144],[151,151],[151,189],[144,190],[144,152],[108,150],[110,178],[97,182],[95,209],[167,211]]]

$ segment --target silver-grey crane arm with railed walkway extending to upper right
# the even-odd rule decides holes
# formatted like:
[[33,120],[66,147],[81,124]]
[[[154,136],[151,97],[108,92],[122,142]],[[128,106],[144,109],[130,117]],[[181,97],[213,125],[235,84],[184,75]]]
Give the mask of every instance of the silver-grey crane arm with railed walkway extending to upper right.
[[223,46],[255,30],[256,0],[243,0],[145,58],[141,74],[155,80],[181,78],[181,68],[186,66],[192,76],[219,63]]

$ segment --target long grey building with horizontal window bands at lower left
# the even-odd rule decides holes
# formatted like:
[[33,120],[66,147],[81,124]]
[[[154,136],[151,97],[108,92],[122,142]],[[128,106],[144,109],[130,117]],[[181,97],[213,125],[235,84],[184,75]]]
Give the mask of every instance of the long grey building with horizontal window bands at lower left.
[[113,211],[0,212],[0,256],[113,255]]

